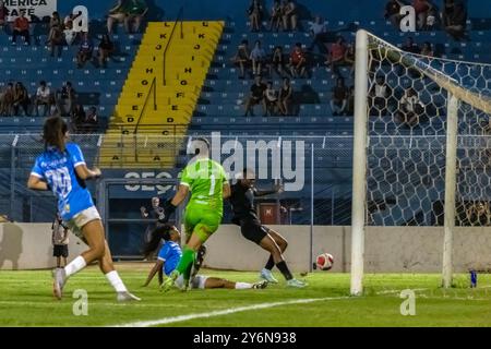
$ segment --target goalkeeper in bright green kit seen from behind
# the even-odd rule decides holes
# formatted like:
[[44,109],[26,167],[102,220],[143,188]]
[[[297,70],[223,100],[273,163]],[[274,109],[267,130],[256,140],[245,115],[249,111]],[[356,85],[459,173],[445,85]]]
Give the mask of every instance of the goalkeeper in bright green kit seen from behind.
[[195,156],[182,172],[178,192],[164,205],[163,221],[167,221],[191,192],[184,213],[187,243],[179,265],[164,281],[164,291],[168,291],[172,284],[181,290],[188,288],[196,252],[218,229],[224,214],[224,198],[230,196],[230,185],[224,168],[209,158],[208,141],[200,137],[192,144]]

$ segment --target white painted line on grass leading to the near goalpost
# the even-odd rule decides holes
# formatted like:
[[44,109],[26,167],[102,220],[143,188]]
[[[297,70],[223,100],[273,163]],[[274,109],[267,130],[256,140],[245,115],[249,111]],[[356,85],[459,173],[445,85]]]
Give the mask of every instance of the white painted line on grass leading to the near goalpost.
[[228,315],[228,314],[233,314],[233,313],[239,313],[239,312],[247,312],[247,311],[251,311],[251,310],[267,309],[267,308],[291,305],[291,304],[306,304],[306,303],[322,302],[322,301],[336,301],[336,300],[343,300],[343,299],[352,299],[352,297],[308,298],[308,299],[297,299],[297,300],[286,301],[286,302],[260,303],[260,304],[248,305],[248,306],[229,308],[229,309],[224,309],[224,310],[218,310],[218,311],[207,312],[207,313],[196,313],[196,314],[170,316],[170,317],[163,317],[163,318],[151,320],[151,321],[139,321],[139,322],[132,322],[132,323],[127,323],[127,324],[113,325],[110,327],[149,327],[149,326],[173,324],[173,323],[179,323],[179,322],[194,320],[194,318]]

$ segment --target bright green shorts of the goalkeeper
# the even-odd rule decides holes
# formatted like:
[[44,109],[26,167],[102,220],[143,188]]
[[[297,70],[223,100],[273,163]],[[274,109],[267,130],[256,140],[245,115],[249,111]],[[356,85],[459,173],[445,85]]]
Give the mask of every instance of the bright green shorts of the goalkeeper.
[[221,222],[221,213],[203,209],[203,206],[188,206],[184,214],[187,241],[195,233],[201,242],[205,242]]

